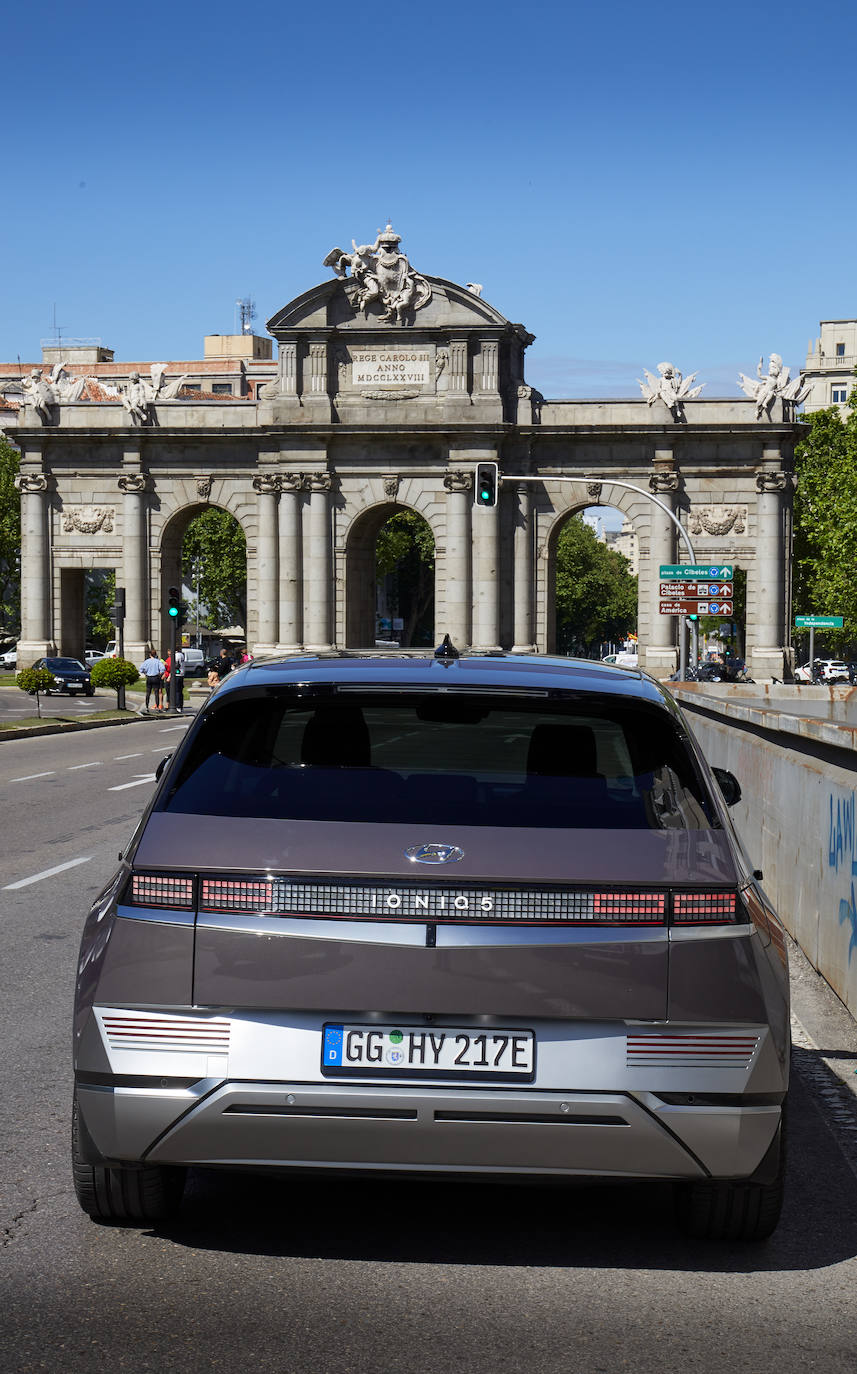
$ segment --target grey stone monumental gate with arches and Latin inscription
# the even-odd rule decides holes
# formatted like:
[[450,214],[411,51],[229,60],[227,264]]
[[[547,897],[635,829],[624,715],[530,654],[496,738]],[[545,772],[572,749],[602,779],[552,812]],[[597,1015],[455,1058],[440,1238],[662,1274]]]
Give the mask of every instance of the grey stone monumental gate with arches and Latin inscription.
[[[19,662],[82,651],[88,567],[115,567],[125,585],[128,655],[162,644],[177,530],[206,504],[231,511],[246,534],[257,654],[371,643],[367,532],[401,507],[434,533],[437,638],[551,650],[559,525],[608,504],[640,541],[641,662],[665,675],[676,621],[658,614],[658,567],[678,561],[676,532],[613,477],[667,503],[703,562],[747,570],[750,669],[783,677],[791,403],[757,419],[749,400],[687,400],[674,411],[661,400],[544,400],[525,381],[533,335],[523,326],[471,290],[419,280],[419,305],[394,319],[383,302],[361,301],[353,278],[298,297],[269,320],[279,365],[257,400],[155,398],[143,419],[119,398],[62,401],[47,415],[25,404],[10,427],[22,452]],[[472,504],[481,460],[507,478],[496,510]]]

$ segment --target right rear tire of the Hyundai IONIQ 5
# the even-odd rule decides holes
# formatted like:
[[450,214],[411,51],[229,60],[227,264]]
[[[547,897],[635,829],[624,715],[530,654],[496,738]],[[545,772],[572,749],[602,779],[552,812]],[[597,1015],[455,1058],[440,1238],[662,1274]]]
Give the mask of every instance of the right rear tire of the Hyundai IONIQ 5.
[[676,1220],[685,1235],[702,1241],[766,1241],[783,1209],[786,1123],[775,1140],[776,1167],[765,1182],[702,1179],[677,1183]]

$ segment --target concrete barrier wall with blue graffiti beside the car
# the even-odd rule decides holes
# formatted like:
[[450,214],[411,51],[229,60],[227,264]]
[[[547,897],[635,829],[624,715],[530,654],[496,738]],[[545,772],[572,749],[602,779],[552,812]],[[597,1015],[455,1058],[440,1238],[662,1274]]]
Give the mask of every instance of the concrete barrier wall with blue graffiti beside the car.
[[857,1015],[854,728],[685,687],[676,697],[709,763],[742,786],[732,818],[783,923]]

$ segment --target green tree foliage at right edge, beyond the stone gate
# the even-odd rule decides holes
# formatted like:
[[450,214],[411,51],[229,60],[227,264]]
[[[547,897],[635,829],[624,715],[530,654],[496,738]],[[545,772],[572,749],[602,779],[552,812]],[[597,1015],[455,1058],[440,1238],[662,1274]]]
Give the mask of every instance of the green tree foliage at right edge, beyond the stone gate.
[[795,471],[794,610],[843,616],[842,629],[824,631],[842,654],[857,636],[857,409],[805,416]]

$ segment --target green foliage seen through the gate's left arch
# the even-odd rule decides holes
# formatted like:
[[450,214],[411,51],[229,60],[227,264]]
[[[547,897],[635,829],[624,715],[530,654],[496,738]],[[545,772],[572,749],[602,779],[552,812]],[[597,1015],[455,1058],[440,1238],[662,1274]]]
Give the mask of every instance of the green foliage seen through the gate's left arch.
[[247,541],[233,515],[213,507],[191,521],[181,545],[181,576],[194,589],[199,584],[210,625],[246,625]]

